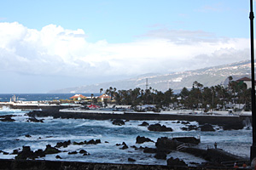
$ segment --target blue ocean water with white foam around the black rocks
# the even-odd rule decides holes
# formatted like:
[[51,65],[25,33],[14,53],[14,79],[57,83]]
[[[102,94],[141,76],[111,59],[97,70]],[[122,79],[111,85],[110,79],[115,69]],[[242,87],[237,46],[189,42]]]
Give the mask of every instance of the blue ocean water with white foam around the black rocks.
[[[16,94],[19,99],[24,100],[46,100],[46,99],[68,99],[73,94]],[[86,94],[85,94],[86,95]],[[88,94],[87,94],[88,95]],[[2,101],[9,101],[12,94],[0,94]],[[143,153],[143,150],[135,150],[131,146],[155,147],[153,142],[136,144],[137,136],[157,141],[160,137],[182,137],[194,136],[201,138],[199,147],[202,149],[213,148],[216,142],[218,148],[229,151],[238,156],[249,157],[250,146],[252,145],[252,130],[229,130],[224,131],[221,127],[215,132],[201,132],[200,130],[183,131],[184,125],[177,121],[146,121],[149,124],[160,123],[166,127],[172,127],[173,132],[151,132],[147,127],[138,126],[143,121],[125,122],[123,126],[112,124],[111,120],[96,121],[86,119],[60,119],[53,117],[40,117],[44,122],[27,122],[28,111],[10,110],[3,108],[0,110],[0,116],[15,115],[15,122],[0,122],[0,150],[8,152],[9,155],[0,153],[2,159],[14,159],[11,155],[13,150],[22,150],[22,146],[30,146],[32,150],[45,149],[47,144],[55,146],[57,142],[71,140],[71,142],[81,142],[90,139],[100,139],[101,144],[70,144],[67,148],[61,148],[61,153],[47,155],[45,160],[57,160],[56,155],[61,156],[61,161],[87,161],[87,162],[106,162],[106,163],[137,163],[147,165],[166,165],[166,160],[154,158],[154,154]],[[197,122],[189,122],[191,125],[198,125]],[[26,137],[29,134],[31,137]],[[128,149],[121,150],[122,145],[128,145]],[[88,156],[82,154],[70,155],[68,152],[86,150],[90,153]],[[187,153],[172,151],[167,155],[169,157],[178,157],[186,163],[201,163],[205,160],[191,156]],[[128,158],[135,159],[135,162],[128,161]],[[192,165],[192,164],[191,164]]]

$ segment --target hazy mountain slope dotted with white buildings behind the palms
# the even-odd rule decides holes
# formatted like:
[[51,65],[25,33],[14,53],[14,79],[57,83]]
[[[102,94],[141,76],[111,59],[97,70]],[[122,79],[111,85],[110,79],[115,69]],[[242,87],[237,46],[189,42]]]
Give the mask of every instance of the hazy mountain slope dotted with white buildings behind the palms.
[[172,88],[175,92],[182,88],[192,88],[193,82],[197,81],[205,87],[211,87],[218,84],[226,85],[228,77],[233,77],[234,80],[240,77],[250,77],[251,62],[250,60],[243,60],[240,62],[207,67],[194,71],[182,71],[169,74],[154,74],[148,73],[139,77],[131,79],[119,80],[115,82],[103,82],[98,84],[84,85],[74,88],[63,88],[50,91],[55,94],[90,94],[99,93],[100,88],[103,91],[109,87],[120,89],[146,88],[146,81],[148,79],[148,88],[154,88],[165,92],[168,88]]

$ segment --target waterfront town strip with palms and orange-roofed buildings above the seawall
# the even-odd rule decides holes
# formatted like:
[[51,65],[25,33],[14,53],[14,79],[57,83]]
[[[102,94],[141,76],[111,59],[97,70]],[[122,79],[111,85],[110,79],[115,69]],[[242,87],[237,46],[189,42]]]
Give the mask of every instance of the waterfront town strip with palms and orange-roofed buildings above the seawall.
[[204,87],[200,82],[193,82],[192,88],[183,88],[175,94],[172,88],[166,92],[158,91],[146,85],[145,89],[135,88],[118,90],[109,87],[99,89],[100,95],[74,94],[69,99],[46,101],[23,101],[13,96],[9,101],[0,102],[0,107],[13,109],[75,108],[79,110],[101,111],[136,111],[136,112],[185,112],[189,114],[250,114],[251,79],[241,77],[233,81],[229,77],[227,87],[216,85]]

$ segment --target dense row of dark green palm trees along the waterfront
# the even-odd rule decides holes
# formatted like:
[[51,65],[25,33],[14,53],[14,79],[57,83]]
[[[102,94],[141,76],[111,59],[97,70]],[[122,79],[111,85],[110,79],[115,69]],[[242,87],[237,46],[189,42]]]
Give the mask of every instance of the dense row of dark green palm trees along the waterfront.
[[117,90],[110,87],[105,93],[111,97],[108,102],[117,105],[156,105],[157,108],[162,109],[172,107],[208,111],[228,108],[227,104],[244,104],[244,109],[248,110],[251,89],[247,89],[247,85],[243,82],[232,81],[232,77],[229,77],[229,80],[227,88],[221,85],[208,88],[195,81],[191,89],[183,88],[180,94],[174,94],[172,88],[163,93],[151,87],[145,90],[142,88]]

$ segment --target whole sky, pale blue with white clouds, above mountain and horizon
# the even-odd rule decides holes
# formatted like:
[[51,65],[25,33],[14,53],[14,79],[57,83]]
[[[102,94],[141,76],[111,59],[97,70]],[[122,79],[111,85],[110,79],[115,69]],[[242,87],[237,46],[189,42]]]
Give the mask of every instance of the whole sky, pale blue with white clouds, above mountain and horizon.
[[2,1],[0,94],[47,93],[250,59],[249,5],[249,0]]

